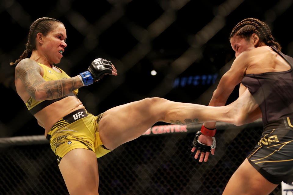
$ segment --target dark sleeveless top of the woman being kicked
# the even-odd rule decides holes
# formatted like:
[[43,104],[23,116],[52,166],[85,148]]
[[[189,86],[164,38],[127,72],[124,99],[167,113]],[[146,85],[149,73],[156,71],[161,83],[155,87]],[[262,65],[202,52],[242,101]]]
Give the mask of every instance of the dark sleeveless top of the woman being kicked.
[[275,47],[271,48],[288,62],[291,69],[282,72],[246,74],[241,81],[262,111],[263,126],[293,115],[293,58],[277,51]]

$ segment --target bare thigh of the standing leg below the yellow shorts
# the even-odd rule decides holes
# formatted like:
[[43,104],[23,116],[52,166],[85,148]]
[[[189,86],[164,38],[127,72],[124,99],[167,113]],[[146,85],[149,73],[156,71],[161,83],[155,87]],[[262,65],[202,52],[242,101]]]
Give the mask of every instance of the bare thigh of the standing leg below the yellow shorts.
[[99,173],[96,154],[76,148],[61,159],[59,169],[71,195],[98,194]]

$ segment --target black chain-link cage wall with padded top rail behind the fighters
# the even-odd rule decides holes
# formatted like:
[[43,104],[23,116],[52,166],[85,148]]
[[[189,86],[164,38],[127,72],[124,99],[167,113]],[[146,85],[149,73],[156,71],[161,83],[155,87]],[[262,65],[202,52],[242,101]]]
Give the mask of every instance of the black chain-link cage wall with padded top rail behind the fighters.
[[[200,124],[154,126],[147,135],[98,158],[99,194],[222,194],[257,143],[262,123],[217,126],[216,152],[207,162],[198,162],[190,151]],[[68,194],[43,136],[1,138],[0,151],[0,194]],[[271,195],[280,194],[279,185]]]

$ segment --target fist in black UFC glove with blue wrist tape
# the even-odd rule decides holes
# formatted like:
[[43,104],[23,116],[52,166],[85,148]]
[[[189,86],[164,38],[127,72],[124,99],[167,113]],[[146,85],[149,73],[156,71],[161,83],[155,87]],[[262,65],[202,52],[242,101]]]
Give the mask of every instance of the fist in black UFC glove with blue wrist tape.
[[79,75],[81,76],[84,85],[88,86],[103,78],[106,74],[111,75],[112,70],[112,62],[98,58],[92,61],[87,71],[80,73]]

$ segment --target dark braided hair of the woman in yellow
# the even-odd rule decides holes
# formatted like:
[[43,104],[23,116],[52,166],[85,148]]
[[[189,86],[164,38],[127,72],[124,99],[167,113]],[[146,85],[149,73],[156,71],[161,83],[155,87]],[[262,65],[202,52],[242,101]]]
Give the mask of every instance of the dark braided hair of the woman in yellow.
[[16,60],[15,62],[10,62],[10,66],[17,65],[22,59],[25,59],[31,51],[35,50],[35,39],[37,37],[37,34],[42,33],[44,36],[46,36],[50,31],[54,30],[54,28],[56,27],[56,23],[63,24],[59,20],[48,17],[42,17],[34,21],[31,24],[31,28],[28,33],[27,43],[25,44],[26,49],[24,50],[24,52],[18,60]]

